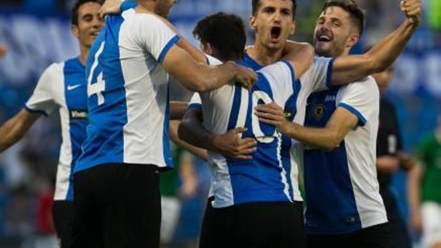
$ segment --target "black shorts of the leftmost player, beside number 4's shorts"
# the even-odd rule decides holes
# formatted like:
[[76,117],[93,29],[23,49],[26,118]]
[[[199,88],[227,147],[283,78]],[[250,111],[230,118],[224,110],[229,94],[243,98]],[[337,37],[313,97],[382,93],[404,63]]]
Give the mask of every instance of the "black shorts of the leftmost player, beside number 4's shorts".
[[74,203],[67,200],[56,200],[52,206],[52,218],[57,231],[60,248],[72,245],[72,224],[74,220]]

